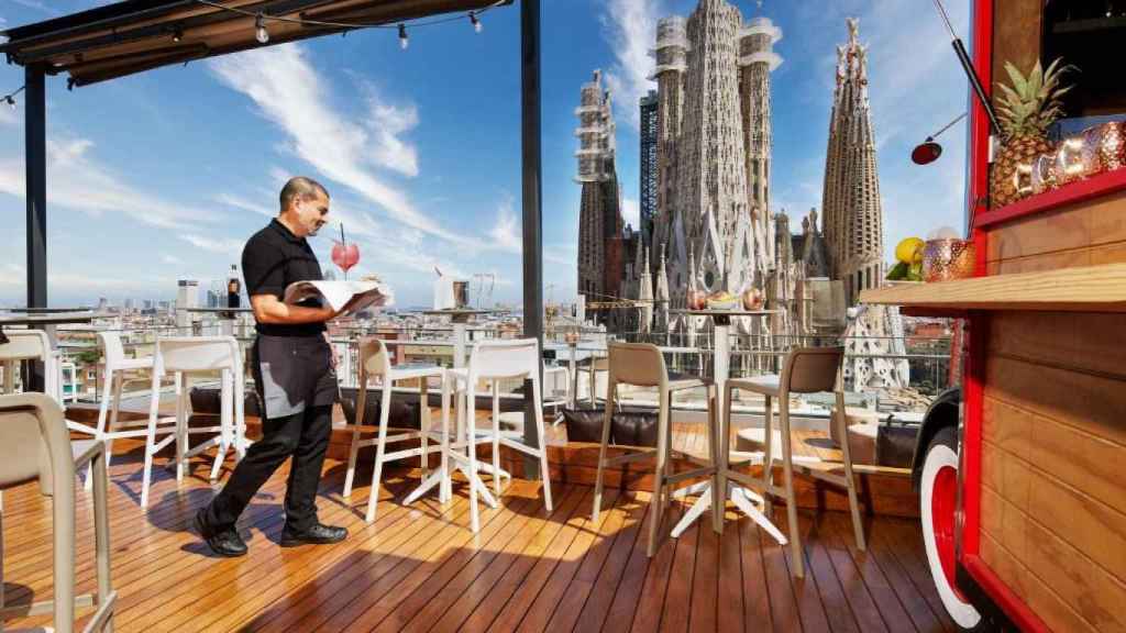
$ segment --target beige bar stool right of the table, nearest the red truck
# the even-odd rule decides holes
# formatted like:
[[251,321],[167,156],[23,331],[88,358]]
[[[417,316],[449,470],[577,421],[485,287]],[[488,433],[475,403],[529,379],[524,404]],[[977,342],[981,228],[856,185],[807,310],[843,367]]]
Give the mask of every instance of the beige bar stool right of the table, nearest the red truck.
[[[804,563],[802,559],[802,535],[797,528],[797,503],[794,500],[794,469],[798,469],[808,476],[820,479],[829,483],[843,487],[848,491],[849,510],[852,514],[852,531],[856,534],[857,549],[865,549],[864,526],[860,524],[860,509],[856,497],[856,480],[852,476],[852,455],[849,451],[849,443],[841,443],[841,453],[844,458],[844,476],[824,472],[814,467],[810,463],[796,463],[794,461],[794,447],[792,445],[789,430],[789,395],[792,393],[823,393],[833,392],[837,395],[837,407],[831,414],[831,425],[837,425],[839,437],[847,437],[844,430],[844,391],[842,386],[842,360],[844,358],[843,347],[799,347],[794,348],[786,355],[780,375],[756,376],[752,378],[732,378],[727,381],[724,390],[724,411],[727,419],[731,419],[731,396],[735,390],[745,390],[761,394],[766,399],[766,417],[763,429],[763,457],[762,479],[756,480],[748,474],[732,471],[730,465],[724,467],[724,475],[740,483],[760,488],[762,490],[763,503],[767,514],[769,510],[769,496],[777,494],[786,500],[786,514],[789,520],[789,543],[794,560],[794,574],[804,577]],[[781,427],[780,442],[783,449],[783,480],[784,485],[774,484],[775,454],[771,449],[774,424],[772,400],[778,400],[778,419]],[[721,455],[724,461],[730,461],[731,434],[725,434]]]

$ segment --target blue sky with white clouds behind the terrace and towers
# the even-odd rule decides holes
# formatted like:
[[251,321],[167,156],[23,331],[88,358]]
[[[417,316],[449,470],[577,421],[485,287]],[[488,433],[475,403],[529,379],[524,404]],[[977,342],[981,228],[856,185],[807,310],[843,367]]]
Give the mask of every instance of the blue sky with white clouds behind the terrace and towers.
[[[11,27],[91,0],[0,0]],[[754,2],[735,2],[748,17]],[[655,20],[695,0],[543,0],[544,266],[547,294],[575,286],[579,186],[573,109],[602,69],[618,119],[618,176],[636,225],[637,98]],[[948,9],[968,41],[968,2]],[[873,118],[888,252],[899,239],[960,226],[965,126],[928,167],[909,152],[966,106],[966,83],[930,2],[767,0],[781,27],[774,74],[774,207],[821,206],[834,46],[844,18],[870,45]],[[66,91],[48,80],[48,296],[52,304],[171,298],[176,279],[224,276],[276,213],[291,175],[323,181],[333,214],[400,305],[426,303],[435,266],[497,276],[493,298],[520,298],[519,8],[410,32],[352,33],[191,63]],[[0,93],[23,69],[0,66]],[[25,295],[23,105],[0,108],[0,304]],[[792,226],[799,222],[793,221]],[[328,232],[313,239],[328,268]]]

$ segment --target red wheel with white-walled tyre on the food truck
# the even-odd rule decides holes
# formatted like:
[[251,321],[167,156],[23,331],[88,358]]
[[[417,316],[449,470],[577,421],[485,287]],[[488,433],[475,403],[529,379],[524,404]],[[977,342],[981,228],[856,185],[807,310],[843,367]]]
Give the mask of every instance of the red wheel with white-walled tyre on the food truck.
[[946,427],[935,434],[926,455],[919,487],[919,508],[927,562],[950,618],[963,630],[973,631],[982,623],[981,614],[954,582],[955,510],[958,496],[957,430]]

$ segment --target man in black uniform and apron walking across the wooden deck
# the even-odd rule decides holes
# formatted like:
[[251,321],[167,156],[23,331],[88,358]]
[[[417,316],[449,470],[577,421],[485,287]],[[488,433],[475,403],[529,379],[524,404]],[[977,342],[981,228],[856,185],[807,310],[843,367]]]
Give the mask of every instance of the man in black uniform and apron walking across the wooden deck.
[[293,178],[282,188],[280,207],[278,216],[250,238],[242,251],[242,271],[258,330],[251,368],[263,405],[262,438],[250,446],[223,491],[195,519],[199,535],[221,556],[247,553],[234,524],[288,457],[293,463],[282,546],[337,543],[348,537],[347,529],[318,520],[315,503],[337,394],[336,358],[324,322],[336,312],[328,306],[282,302],[289,284],[322,278],[305,238],[315,235],[328,222],[329,193],[315,180]]

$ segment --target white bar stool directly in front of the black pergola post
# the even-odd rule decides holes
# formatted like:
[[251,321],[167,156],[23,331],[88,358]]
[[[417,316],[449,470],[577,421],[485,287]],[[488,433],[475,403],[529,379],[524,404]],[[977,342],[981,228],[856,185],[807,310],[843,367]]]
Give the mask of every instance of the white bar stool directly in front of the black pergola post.
[[[485,498],[485,502],[491,507],[497,507],[497,499],[489,493],[489,489],[477,473],[482,470],[491,472],[493,487],[497,497],[500,497],[500,482],[502,476],[511,479],[511,474],[506,473],[500,467],[500,446],[519,451],[539,460],[540,476],[544,480],[544,506],[547,511],[552,511],[552,485],[551,471],[547,467],[547,435],[544,433],[544,408],[540,394],[539,372],[543,364],[539,353],[539,341],[536,339],[512,339],[512,340],[486,340],[473,346],[470,354],[470,365],[447,369],[454,378],[457,399],[457,439],[447,446],[446,453],[470,480],[470,517],[473,532],[481,529],[481,521],[477,511],[477,493]],[[497,383],[504,380],[530,380],[533,407],[536,417],[536,434],[539,438],[539,447],[528,446],[519,439],[502,434],[500,430],[500,416],[492,416],[492,428],[482,434],[476,430],[476,385],[481,381],[491,382],[493,399],[497,401]],[[465,429],[464,435],[462,429]],[[486,467],[479,464],[476,456],[477,444],[492,444],[492,466]],[[462,449],[465,453],[462,453]]]

